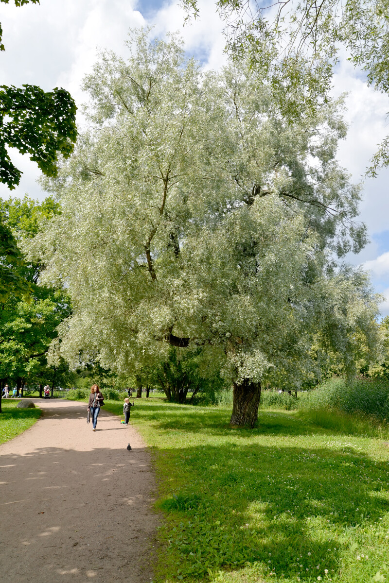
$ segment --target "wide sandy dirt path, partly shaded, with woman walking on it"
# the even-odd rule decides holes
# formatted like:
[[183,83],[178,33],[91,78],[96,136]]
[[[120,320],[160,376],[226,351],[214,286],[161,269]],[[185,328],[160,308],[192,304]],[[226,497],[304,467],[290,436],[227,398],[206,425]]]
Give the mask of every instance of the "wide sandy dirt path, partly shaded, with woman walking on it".
[[150,583],[155,482],[141,437],[103,409],[93,432],[85,403],[33,400],[41,419],[0,445],[1,581]]

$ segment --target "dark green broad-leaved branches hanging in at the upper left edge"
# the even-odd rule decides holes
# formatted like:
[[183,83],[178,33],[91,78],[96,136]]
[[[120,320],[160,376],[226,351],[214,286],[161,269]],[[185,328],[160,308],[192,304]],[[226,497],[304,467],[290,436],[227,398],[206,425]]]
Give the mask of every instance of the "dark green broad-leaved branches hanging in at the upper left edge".
[[[9,0],[0,0],[5,4]],[[16,6],[39,0],[15,0]],[[0,50],[2,44],[0,25]],[[21,171],[12,163],[8,148],[29,154],[47,176],[57,175],[58,154],[70,156],[77,137],[76,105],[65,89],[44,92],[36,85],[0,86],[0,182],[10,190],[20,182]],[[12,232],[0,224],[0,302],[11,293],[28,298],[31,286],[15,266],[22,261]]]

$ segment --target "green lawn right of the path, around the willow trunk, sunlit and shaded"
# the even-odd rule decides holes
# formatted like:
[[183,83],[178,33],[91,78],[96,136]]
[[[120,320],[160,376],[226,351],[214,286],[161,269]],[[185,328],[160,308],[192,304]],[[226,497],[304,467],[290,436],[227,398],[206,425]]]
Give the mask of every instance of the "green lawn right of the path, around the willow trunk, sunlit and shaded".
[[164,513],[156,581],[389,581],[387,445],[299,412],[261,410],[254,430],[229,414],[135,403]]

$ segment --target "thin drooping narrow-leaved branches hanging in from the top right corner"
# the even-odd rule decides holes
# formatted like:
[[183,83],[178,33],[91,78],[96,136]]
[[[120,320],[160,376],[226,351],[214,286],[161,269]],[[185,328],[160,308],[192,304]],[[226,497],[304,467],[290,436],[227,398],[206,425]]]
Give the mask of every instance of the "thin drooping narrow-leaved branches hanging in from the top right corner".
[[[187,18],[198,17],[197,0],[181,0]],[[290,123],[331,100],[331,78],[341,48],[366,74],[367,85],[389,92],[388,0],[322,0],[255,3],[215,0],[225,20],[227,50],[248,58],[262,82],[283,94]],[[389,163],[389,136],[381,142],[368,174]]]

